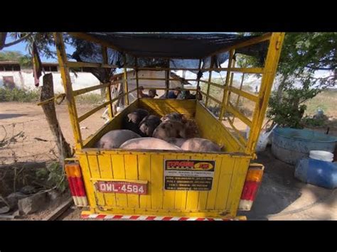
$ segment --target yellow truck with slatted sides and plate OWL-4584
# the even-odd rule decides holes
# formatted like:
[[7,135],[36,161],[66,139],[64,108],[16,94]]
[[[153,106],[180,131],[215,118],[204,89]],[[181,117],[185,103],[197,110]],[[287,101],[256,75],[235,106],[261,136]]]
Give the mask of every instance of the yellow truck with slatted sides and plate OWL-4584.
[[[54,33],[58,62],[65,87],[70,121],[75,137],[75,155],[65,160],[65,172],[75,205],[85,207],[82,218],[133,219],[133,220],[236,220],[238,210],[250,210],[260,186],[263,165],[252,163],[256,158],[255,148],[260,136],[269,95],[274,82],[284,33],[266,33],[261,36],[220,36],[215,38],[205,34],[139,35],[120,33],[69,33],[78,40],[100,46],[102,62],[72,62],[67,59],[63,33]],[[148,43],[146,43],[146,41]],[[220,41],[220,42],[219,42]],[[164,47],[166,45],[166,47]],[[263,66],[255,68],[238,67],[237,53],[259,52],[265,48]],[[246,50],[248,48],[248,50]],[[250,49],[252,48],[252,49]],[[260,49],[259,49],[260,48]],[[108,50],[120,53],[124,65],[109,63]],[[228,55],[228,66],[214,65],[220,54]],[[129,60],[125,64],[126,57]],[[197,60],[198,67],[172,67],[165,65],[144,66],[139,59]],[[201,67],[205,59],[210,64]],[[151,61],[151,60],[150,60]],[[111,87],[114,82],[106,82],[94,87],[73,90],[70,68],[91,67],[103,70],[124,68],[124,92],[112,99]],[[136,71],[135,89],[128,89],[130,77],[127,69]],[[197,77],[195,89],[203,95],[198,99],[151,99],[138,98],[129,102],[129,94],[139,90],[137,75],[141,70],[165,71],[164,88],[169,90],[171,70],[209,72],[207,80]],[[212,72],[226,74],[223,84],[212,82]],[[259,74],[262,76],[260,91],[247,92],[233,85],[233,75]],[[144,80],[144,78],[143,78]],[[243,78],[242,78],[243,80]],[[159,81],[159,80],[158,80]],[[199,89],[200,83],[207,90]],[[218,87],[223,94],[219,100],[210,95],[210,87]],[[95,89],[107,88],[107,102],[77,115],[75,97]],[[232,95],[254,102],[250,117],[237,108],[230,100]],[[121,97],[127,106],[114,113],[112,103]],[[205,100],[205,101],[204,101]],[[209,109],[210,101],[218,104],[220,114],[215,116]],[[109,109],[109,121],[87,139],[82,139],[80,122],[102,108]],[[223,147],[220,153],[196,153],[184,150],[127,150],[93,148],[105,133],[122,128],[122,119],[134,109],[143,108],[159,116],[178,112],[198,124],[200,136]],[[230,116],[232,119],[230,119]],[[225,118],[225,120],[223,120]],[[248,127],[247,138],[235,127],[234,120],[240,120]],[[226,123],[226,125],[225,125]]]

